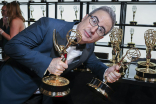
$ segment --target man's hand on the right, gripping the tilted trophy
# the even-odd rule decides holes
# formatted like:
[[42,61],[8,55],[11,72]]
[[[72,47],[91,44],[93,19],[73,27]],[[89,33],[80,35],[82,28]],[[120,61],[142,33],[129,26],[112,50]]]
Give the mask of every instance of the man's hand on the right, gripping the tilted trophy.
[[107,81],[109,83],[113,83],[113,82],[117,81],[121,77],[121,74],[118,73],[119,69],[120,69],[119,66],[115,65],[115,66],[109,67],[106,70],[106,72],[104,74],[104,77],[105,76],[107,77]]

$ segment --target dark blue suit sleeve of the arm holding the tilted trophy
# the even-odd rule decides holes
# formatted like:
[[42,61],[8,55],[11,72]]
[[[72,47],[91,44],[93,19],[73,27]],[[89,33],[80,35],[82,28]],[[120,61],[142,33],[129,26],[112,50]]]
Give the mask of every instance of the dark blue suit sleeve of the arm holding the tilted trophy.
[[90,57],[84,64],[92,71],[94,75],[96,75],[100,80],[103,80],[104,72],[108,66],[97,59],[94,52],[91,53]]

